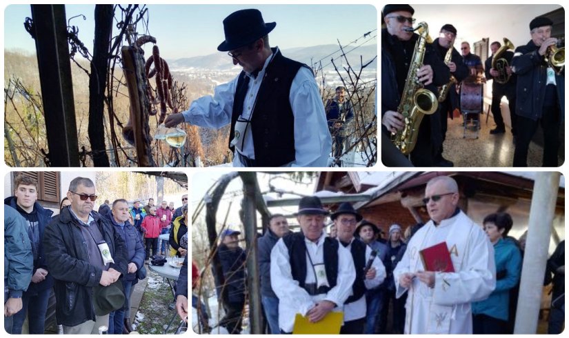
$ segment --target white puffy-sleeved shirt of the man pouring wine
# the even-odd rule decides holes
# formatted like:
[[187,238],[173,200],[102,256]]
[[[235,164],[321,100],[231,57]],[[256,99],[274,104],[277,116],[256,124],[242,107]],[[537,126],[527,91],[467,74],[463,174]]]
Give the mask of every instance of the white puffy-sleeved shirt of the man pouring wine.
[[[278,52],[278,48],[277,48]],[[254,110],[254,102],[265,77],[272,54],[267,58],[263,69],[255,79],[251,74],[243,112],[241,116],[248,119]],[[182,112],[184,121],[204,128],[219,129],[231,123],[233,99],[239,75],[228,83],[214,88],[213,96],[200,97],[192,102],[190,109]],[[288,97],[292,114],[295,115],[295,161],[285,166],[290,167],[326,167],[332,151],[332,137],[326,122],[326,112],[314,75],[306,67],[301,67],[290,86]],[[252,132],[246,132],[242,155],[254,159]],[[237,154],[233,157],[233,166],[242,167]]]

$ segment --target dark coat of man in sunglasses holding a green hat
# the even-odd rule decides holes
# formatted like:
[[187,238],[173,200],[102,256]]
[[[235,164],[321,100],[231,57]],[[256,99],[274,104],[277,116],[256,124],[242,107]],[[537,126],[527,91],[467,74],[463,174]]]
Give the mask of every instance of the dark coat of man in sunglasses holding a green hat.
[[[128,271],[126,243],[114,226],[98,212],[91,212],[91,215],[114,259],[109,268],[125,276]],[[63,208],[43,235],[48,268],[55,279],[57,324],[65,326],[77,326],[96,319],[92,288],[99,284],[103,270],[89,264],[87,243],[79,228],[81,226],[71,215],[70,207]]]

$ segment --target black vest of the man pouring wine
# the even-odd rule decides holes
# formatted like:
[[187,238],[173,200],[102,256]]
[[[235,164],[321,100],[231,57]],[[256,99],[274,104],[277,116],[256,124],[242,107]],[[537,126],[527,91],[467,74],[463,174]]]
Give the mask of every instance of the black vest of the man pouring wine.
[[[253,133],[255,161],[259,167],[278,167],[295,161],[295,116],[288,97],[292,80],[299,69],[306,66],[283,57],[275,48],[272,52],[274,57],[265,70],[251,118],[250,132]],[[233,100],[230,141],[237,118],[243,112],[249,81],[242,71]],[[234,151],[231,144],[229,148]]]

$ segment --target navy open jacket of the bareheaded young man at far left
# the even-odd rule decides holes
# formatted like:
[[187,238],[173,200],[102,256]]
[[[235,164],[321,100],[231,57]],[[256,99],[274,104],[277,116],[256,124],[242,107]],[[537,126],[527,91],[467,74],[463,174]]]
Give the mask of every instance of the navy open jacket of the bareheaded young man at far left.
[[[16,197],[6,197],[4,199],[4,204],[11,206],[14,210],[17,211],[17,203]],[[46,227],[52,220],[53,211],[49,209],[44,209],[38,202],[34,203],[34,210],[37,212],[37,219],[39,222],[39,246],[38,246],[38,257],[34,260],[34,270],[32,271],[32,276],[36,273],[36,270],[39,268],[43,268],[50,272],[48,269],[48,264],[46,263],[46,252],[43,249],[43,232],[46,231]],[[26,226],[26,234],[28,233],[28,227]],[[32,239],[30,239],[31,241]],[[46,279],[40,281],[39,283],[32,283],[30,281],[30,286],[26,291],[27,295],[34,296],[37,295],[37,292],[41,292],[43,290],[47,290],[53,286],[53,277],[51,273],[48,273]]]

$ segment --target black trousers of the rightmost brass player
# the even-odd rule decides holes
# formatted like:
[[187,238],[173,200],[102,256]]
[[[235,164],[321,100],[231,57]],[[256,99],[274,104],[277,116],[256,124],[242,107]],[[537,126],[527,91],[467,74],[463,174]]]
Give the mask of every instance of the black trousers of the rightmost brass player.
[[[555,90],[548,88],[548,90]],[[555,94],[555,92],[554,92]],[[546,95],[547,97],[548,95]],[[553,106],[544,106],[541,114],[541,119],[534,121],[527,117],[517,117],[517,135],[516,135],[516,150],[514,152],[514,166],[527,167],[528,166],[528,150],[530,142],[537,130],[538,121],[543,130],[543,163],[544,167],[557,167],[557,152],[559,150],[559,125],[561,124],[561,117],[559,106],[557,106],[557,94],[554,95],[555,99],[549,99],[547,103],[553,103]]]

